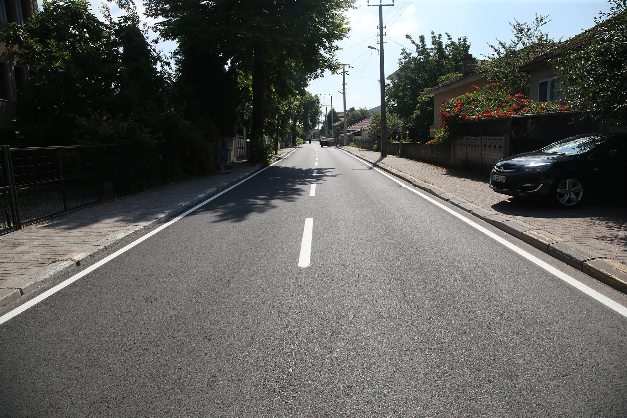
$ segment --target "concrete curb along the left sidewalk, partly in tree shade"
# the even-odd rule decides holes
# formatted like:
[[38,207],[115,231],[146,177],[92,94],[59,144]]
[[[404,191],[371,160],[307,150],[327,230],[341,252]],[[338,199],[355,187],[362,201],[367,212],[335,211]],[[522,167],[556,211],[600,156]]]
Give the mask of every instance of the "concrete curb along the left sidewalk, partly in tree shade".
[[[287,155],[289,154],[291,153],[288,153]],[[40,271],[36,272],[33,276],[23,277],[23,279],[19,280],[18,282],[14,282],[13,286],[11,287],[0,288],[0,305],[4,306],[9,302],[18,299],[18,297],[23,296],[30,291],[33,291],[37,287],[40,287],[42,284],[51,281],[55,277],[60,276],[61,274],[70,271],[71,269],[74,269],[77,265],[81,265],[82,262],[92,259],[103,251],[122,244],[130,238],[134,238],[137,233],[147,232],[159,225],[160,223],[177,217],[189,208],[192,208],[198,203],[201,203],[201,201],[204,201],[212,195],[216,195],[220,191],[227,189],[236,183],[239,183],[241,180],[245,179],[248,176],[251,176],[252,174],[255,174],[262,168],[263,167],[261,166],[261,164],[252,166],[250,169],[246,170],[240,177],[234,180],[222,183],[217,187],[213,187],[204,191],[204,193],[199,193],[196,196],[192,196],[191,200],[182,201],[178,205],[159,209],[153,215],[150,215],[147,218],[140,219],[137,222],[134,222],[133,225],[119,230],[118,232],[112,233],[111,235],[108,235],[108,237],[102,238],[101,240],[94,242],[92,245],[84,247],[76,251],[75,253],[70,254],[67,259],[58,260],[58,262],[54,262],[53,264],[44,267]]]

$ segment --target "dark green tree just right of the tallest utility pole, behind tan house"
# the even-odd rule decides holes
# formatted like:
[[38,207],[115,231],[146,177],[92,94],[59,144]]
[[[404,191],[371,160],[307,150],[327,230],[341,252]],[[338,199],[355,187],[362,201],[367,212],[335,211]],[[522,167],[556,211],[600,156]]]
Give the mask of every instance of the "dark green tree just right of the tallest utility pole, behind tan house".
[[[466,37],[453,40],[446,33],[431,32],[431,46],[427,46],[424,36],[418,42],[411,36],[407,38],[414,45],[413,51],[403,49],[399,58],[398,80],[393,80],[387,87],[387,99],[391,112],[409,122],[409,137],[416,141],[429,138],[429,126],[433,124],[433,98],[424,98],[420,94],[428,88],[438,85],[438,78],[461,73],[461,59],[468,53],[470,43]],[[389,129],[389,128],[388,128]],[[389,137],[391,132],[388,133]]]

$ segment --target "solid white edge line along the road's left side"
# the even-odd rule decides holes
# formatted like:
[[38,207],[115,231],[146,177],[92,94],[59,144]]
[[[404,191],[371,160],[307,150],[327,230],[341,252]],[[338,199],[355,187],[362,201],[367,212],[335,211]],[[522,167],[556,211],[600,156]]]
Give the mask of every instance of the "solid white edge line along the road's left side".
[[[300,146],[298,146],[298,147],[300,147]],[[217,193],[216,195],[211,196],[210,198],[208,198],[207,200],[203,201],[202,203],[199,203],[198,205],[194,206],[190,210],[187,210],[187,212],[181,213],[181,215],[178,215],[176,218],[174,218],[172,220],[169,220],[168,222],[164,223],[163,225],[161,225],[161,227],[155,228],[155,230],[150,231],[149,233],[147,233],[146,235],[144,235],[141,238],[137,238],[137,240],[135,240],[134,242],[131,242],[130,244],[125,245],[125,247],[123,247],[122,249],[119,249],[116,252],[114,252],[113,254],[108,255],[107,257],[105,257],[102,260],[98,261],[94,265],[90,265],[90,267],[87,267],[87,269],[83,270],[82,272],[77,273],[77,274],[75,274],[72,277],[69,277],[65,281],[57,284],[52,289],[48,289],[47,291],[43,292],[42,294],[33,297],[33,299],[29,300],[28,302],[26,302],[24,304],[21,304],[20,306],[18,306],[17,308],[13,309],[12,311],[9,311],[8,313],[4,314],[3,316],[0,316],[0,325],[4,324],[6,321],[8,321],[9,319],[13,318],[14,316],[23,313],[24,311],[26,311],[26,309],[31,308],[34,305],[40,303],[41,301],[43,301],[47,297],[52,296],[53,294],[55,294],[56,292],[60,291],[64,287],[69,286],[70,284],[72,284],[73,282],[77,281],[81,277],[86,276],[87,274],[90,274],[92,271],[94,271],[98,267],[100,267],[100,266],[102,266],[104,264],[107,264],[108,262],[110,262],[111,260],[115,259],[119,255],[124,254],[128,250],[130,250],[133,247],[135,247],[135,245],[139,245],[141,242],[144,242],[148,238],[152,237],[152,235],[155,235],[155,233],[160,232],[161,230],[169,227],[170,225],[172,225],[172,223],[177,222],[179,219],[181,219],[183,217],[186,217],[187,215],[189,215],[189,213],[192,213],[192,212],[194,212],[194,210],[196,210],[196,209],[206,205],[207,203],[209,203],[210,201],[214,200],[218,196],[224,195],[224,193],[226,193],[227,191],[229,191],[229,190],[231,190],[233,188],[236,188],[237,186],[241,185],[241,183],[244,183],[246,180],[249,180],[249,179],[255,177],[257,174],[261,173],[261,171],[265,171],[266,169],[270,168],[274,164],[277,164],[279,161],[282,161],[283,159],[287,158],[287,156],[289,156],[294,151],[296,151],[298,149],[298,147],[295,147],[292,151],[290,151],[289,154],[287,154],[282,159],[278,159],[274,163],[270,164],[267,167],[264,167],[264,168],[260,169],[256,173],[251,174],[250,176],[244,178],[243,180],[239,181],[238,183],[234,184],[233,186],[231,186],[231,187],[229,187],[227,189],[224,189],[223,191],[221,191],[220,193]]]

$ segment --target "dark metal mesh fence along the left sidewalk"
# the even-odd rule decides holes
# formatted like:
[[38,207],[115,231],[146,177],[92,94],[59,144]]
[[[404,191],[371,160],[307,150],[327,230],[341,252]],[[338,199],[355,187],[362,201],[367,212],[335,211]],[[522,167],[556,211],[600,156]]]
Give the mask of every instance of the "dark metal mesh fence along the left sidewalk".
[[19,228],[20,222],[38,222],[129,192],[121,144],[4,149],[8,170],[3,181],[13,181],[18,217],[13,217],[13,222],[5,220],[0,224],[3,229]]

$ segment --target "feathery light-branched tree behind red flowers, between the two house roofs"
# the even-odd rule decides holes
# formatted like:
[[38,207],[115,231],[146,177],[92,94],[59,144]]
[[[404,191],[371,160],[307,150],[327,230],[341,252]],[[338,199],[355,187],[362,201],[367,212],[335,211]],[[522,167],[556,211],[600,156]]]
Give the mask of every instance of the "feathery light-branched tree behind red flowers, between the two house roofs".
[[520,72],[520,66],[533,60],[552,48],[556,41],[542,31],[542,26],[552,19],[549,16],[535,14],[532,23],[520,23],[514,19],[509,42],[497,40],[496,45],[488,44],[493,53],[487,56],[490,62],[478,68],[490,83],[499,83],[501,88],[511,94],[529,97],[529,74]]

